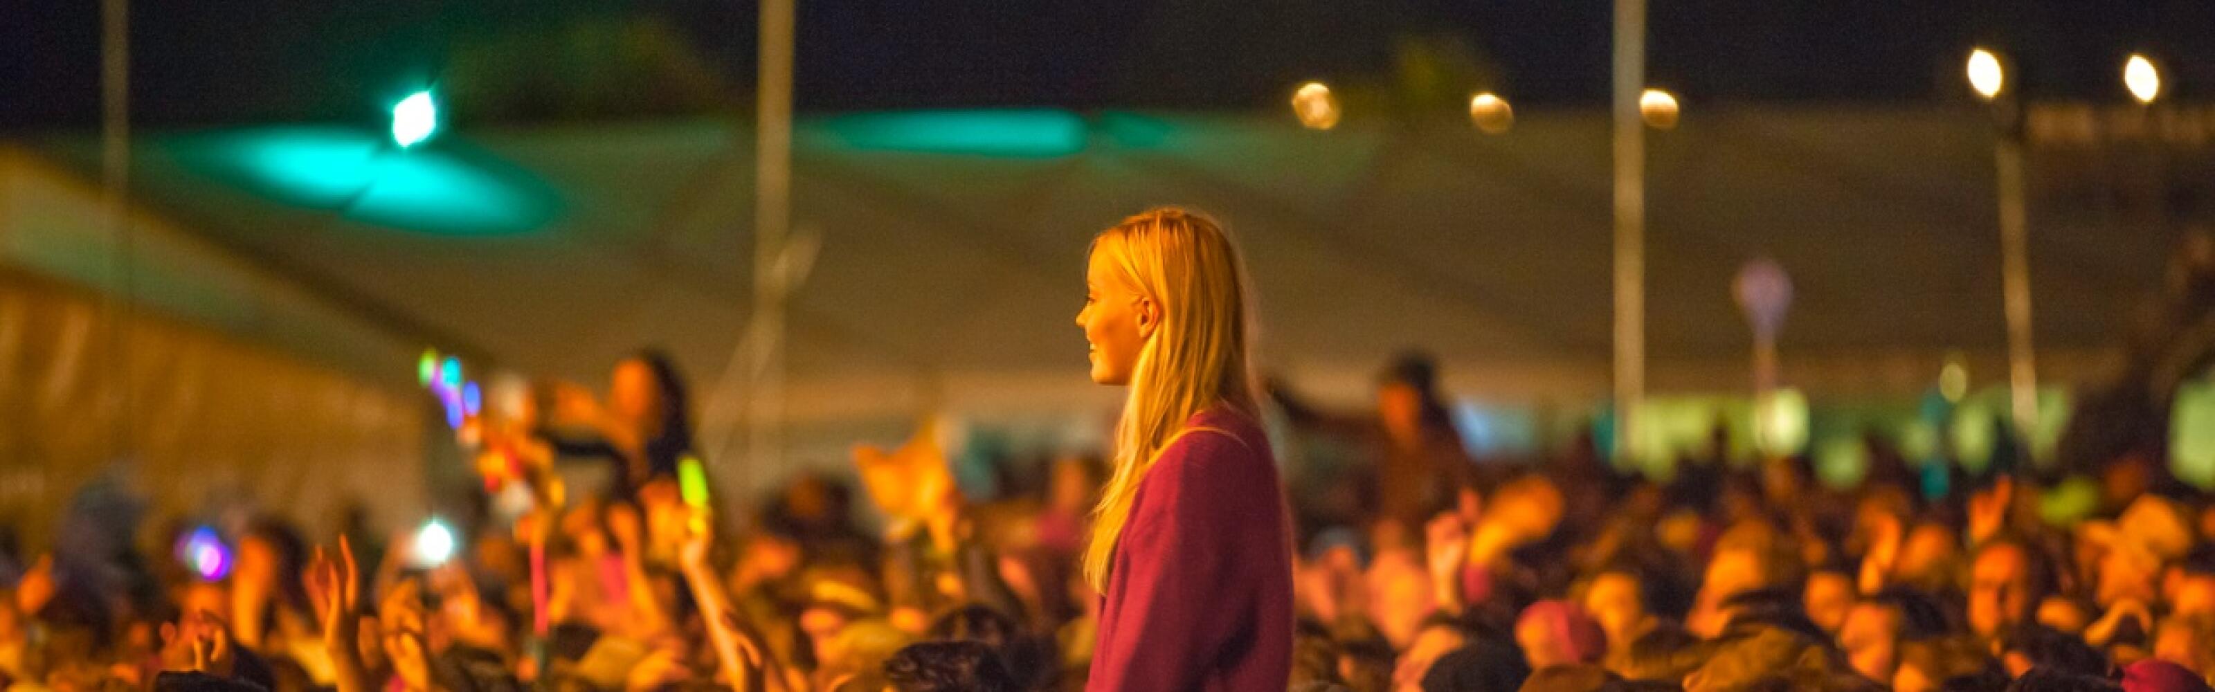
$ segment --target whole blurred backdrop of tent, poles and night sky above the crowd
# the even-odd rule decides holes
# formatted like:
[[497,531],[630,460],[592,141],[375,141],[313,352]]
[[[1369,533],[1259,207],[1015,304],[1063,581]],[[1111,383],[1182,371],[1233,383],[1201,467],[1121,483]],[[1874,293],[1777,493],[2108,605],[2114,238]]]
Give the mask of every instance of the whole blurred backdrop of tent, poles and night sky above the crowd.
[[1480,459],[2215,484],[2215,4],[11,4],[0,521],[421,517],[649,346],[740,490],[1092,450],[1085,242],[1152,204],[1285,390],[1431,353]]

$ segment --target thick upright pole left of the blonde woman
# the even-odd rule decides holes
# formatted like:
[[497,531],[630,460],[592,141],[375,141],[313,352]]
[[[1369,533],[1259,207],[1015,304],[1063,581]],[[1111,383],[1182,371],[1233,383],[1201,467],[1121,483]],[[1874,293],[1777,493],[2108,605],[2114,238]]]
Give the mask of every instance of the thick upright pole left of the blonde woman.
[[784,277],[777,257],[791,228],[793,195],[793,2],[762,0],[760,93],[755,100],[753,182],[753,344],[746,410],[751,490],[784,459]]

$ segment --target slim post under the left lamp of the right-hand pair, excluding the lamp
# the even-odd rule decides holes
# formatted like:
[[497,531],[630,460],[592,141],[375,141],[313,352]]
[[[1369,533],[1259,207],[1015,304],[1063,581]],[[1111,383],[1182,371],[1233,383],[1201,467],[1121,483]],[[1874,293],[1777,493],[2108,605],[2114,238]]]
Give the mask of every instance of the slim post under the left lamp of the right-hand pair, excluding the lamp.
[[2022,142],[2002,133],[1993,149],[2000,184],[2000,291],[2007,302],[2007,388],[2016,435],[2038,424],[2038,366],[2031,355],[2029,213],[2022,193]]

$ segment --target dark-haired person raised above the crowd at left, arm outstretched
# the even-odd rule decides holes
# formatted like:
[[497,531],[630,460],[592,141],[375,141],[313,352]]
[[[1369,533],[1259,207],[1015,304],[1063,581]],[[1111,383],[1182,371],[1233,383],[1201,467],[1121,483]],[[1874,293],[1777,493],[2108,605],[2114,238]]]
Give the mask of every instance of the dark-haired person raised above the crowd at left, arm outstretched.
[[676,477],[678,459],[693,450],[684,377],[658,348],[616,364],[607,404],[578,386],[558,386],[554,395],[552,426],[538,437],[563,457],[609,459],[611,499],[633,499],[649,481]]

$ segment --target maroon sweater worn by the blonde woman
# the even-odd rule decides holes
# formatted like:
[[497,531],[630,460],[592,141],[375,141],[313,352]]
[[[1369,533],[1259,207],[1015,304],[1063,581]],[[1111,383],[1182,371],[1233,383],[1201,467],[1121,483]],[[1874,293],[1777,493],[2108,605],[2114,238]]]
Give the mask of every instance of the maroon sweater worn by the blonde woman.
[[1085,690],[1285,692],[1291,548],[1260,426],[1209,408],[1139,481]]

